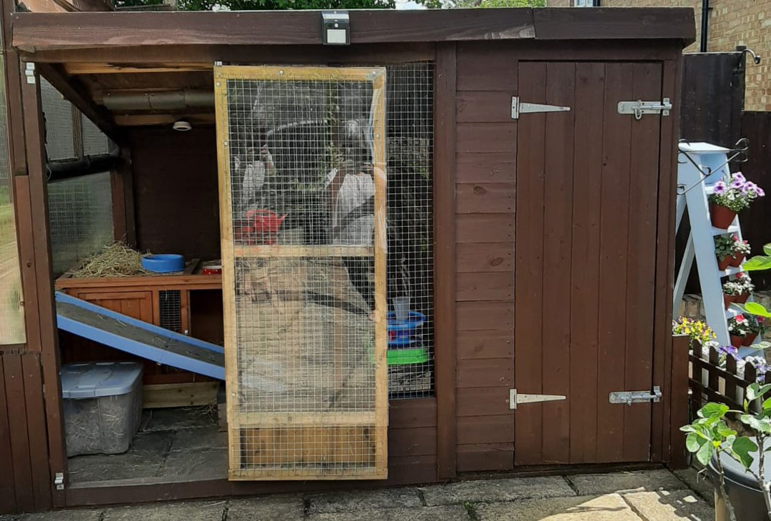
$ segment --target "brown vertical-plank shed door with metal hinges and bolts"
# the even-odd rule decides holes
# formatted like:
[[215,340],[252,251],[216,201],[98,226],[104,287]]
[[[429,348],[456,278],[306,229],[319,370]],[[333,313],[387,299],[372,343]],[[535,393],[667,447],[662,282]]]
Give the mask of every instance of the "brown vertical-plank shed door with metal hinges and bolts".
[[658,63],[520,62],[517,125],[515,387],[564,395],[520,404],[516,465],[650,459],[659,115]]

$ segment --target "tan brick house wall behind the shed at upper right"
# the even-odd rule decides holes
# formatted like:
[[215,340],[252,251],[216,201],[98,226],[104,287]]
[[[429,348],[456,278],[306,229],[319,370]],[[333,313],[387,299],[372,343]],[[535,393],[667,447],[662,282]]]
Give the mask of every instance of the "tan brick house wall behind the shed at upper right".
[[[573,0],[547,0],[549,7],[567,7]],[[701,0],[601,0],[603,7],[692,7],[696,41],[685,52],[699,52],[702,26]],[[747,111],[771,111],[771,0],[710,0],[709,52],[732,51],[746,45],[763,57],[759,66],[747,60]]]

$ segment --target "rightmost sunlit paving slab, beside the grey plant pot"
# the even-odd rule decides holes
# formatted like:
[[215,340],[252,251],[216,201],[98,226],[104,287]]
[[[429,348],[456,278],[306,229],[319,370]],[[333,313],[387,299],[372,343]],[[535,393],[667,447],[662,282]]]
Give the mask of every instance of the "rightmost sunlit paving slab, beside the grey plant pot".
[[632,492],[624,499],[645,519],[670,521],[693,519],[694,521],[712,521],[715,509],[692,490],[662,490],[659,492]]

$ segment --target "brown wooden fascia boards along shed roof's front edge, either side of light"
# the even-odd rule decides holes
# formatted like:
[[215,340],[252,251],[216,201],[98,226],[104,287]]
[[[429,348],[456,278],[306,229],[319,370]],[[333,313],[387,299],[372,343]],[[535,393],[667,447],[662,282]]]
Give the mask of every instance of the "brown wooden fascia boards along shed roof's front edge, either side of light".
[[[691,8],[354,10],[351,43],[492,39],[680,39],[693,42]],[[52,49],[148,45],[320,45],[314,11],[15,13],[13,46]]]

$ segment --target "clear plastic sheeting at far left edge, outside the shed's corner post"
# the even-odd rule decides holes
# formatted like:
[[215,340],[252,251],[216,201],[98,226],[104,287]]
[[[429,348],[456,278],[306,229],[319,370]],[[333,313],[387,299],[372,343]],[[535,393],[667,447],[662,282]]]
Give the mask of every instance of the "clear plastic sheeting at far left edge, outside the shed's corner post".
[[[5,66],[0,55],[0,69]],[[8,107],[5,77],[0,77],[0,345],[23,344],[24,311],[19,249],[16,244],[11,164],[8,155]]]

